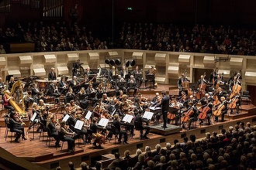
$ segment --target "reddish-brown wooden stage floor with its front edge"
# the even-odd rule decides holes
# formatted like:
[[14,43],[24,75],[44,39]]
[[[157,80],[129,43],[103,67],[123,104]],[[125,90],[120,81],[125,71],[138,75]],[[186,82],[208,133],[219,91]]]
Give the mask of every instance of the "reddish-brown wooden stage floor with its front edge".
[[[160,85],[155,90],[141,90],[141,93],[144,93],[146,97],[152,98],[154,97],[154,93],[161,92],[161,90],[169,91],[168,85]],[[4,148],[6,151],[9,151],[12,155],[15,155],[19,158],[24,158],[29,162],[33,162],[36,165],[40,165],[47,169],[55,169],[58,165],[61,165],[62,169],[67,168],[67,162],[74,162],[75,167],[78,167],[81,162],[87,162],[89,165],[93,165],[95,161],[99,161],[102,159],[102,155],[106,155],[109,153],[114,153],[119,151],[120,155],[123,155],[123,152],[129,149],[131,154],[135,154],[137,148],[140,148],[144,151],[145,146],[150,146],[154,148],[158,143],[161,146],[165,146],[166,142],[170,142],[173,145],[173,140],[177,138],[182,141],[182,138],[190,134],[195,134],[196,138],[205,137],[205,133],[207,131],[217,131],[220,132],[222,128],[228,128],[230,125],[237,124],[237,121],[250,121],[252,125],[256,124],[256,107],[252,104],[243,104],[241,107],[240,114],[228,114],[225,116],[225,122],[213,122],[211,125],[206,125],[206,122],[203,125],[199,125],[199,121],[197,123],[192,123],[192,130],[185,131],[178,126],[178,131],[175,131],[174,134],[161,135],[161,134],[153,134],[150,132],[148,137],[150,139],[140,140],[139,131],[135,131],[135,136],[133,138],[129,137],[128,145],[123,144],[114,144],[114,139],[109,142],[107,141],[106,145],[103,145],[103,149],[92,148],[92,144],[90,145],[82,145],[80,144],[78,147],[78,140],[76,141],[76,147],[74,153],[69,153],[66,151],[67,142],[64,143],[64,151],[61,152],[61,148],[54,147],[54,141],[50,143],[50,147],[46,145],[46,136],[44,138],[40,138],[40,133],[34,133],[33,139],[33,129],[28,134],[28,140],[21,141],[20,143],[13,142],[14,138],[10,136],[5,141],[5,127],[0,128],[0,147]],[[1,120],[0,120],[1,121]],[[160,126],[161,124],[159,124]],[[153,126],[153,124],[152,124]],[[169,124],[169,126],[171,126]],[[26,128],[27,129],[27,128]],[[25,129],[25,131],[26,131]],[[35,128],[36,129],[36,128]],[[11,133],[9,132],[9,135]],[[46,133],[47,135],[47,133]],[[44,139],[44,141],[43,141]],[[116,140],[117,141],[117,140]],[[81,142],[81,141],[80,141]]]

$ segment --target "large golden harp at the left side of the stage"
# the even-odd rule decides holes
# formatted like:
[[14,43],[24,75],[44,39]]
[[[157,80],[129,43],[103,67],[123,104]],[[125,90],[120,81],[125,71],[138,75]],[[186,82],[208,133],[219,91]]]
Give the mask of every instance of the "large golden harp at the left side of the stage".
[[9,91],[5,90],[4,94],[5,94],[5,96],[7,98],[9,98],[10,96],[12,96],[13,93],[16,93],[19,90],[20,96],[18,96],[18,98],[22,102],[22,108],[20,108],[19,105],[16,104],[16,101],[13,100],[13,99],[10,99],[9,103],[16,110],[16,112],[18,112],[20,114],[21,117],[27,117],[28,115],[26,114],[26,110],[25,110],[25,104],[24,104],[24,98],[23,98],[23,87],[22,87],[22,85],[23,85],[22,82],[20,80],[18,80],[15,83],[13,83],[12,91],[9,93]]

